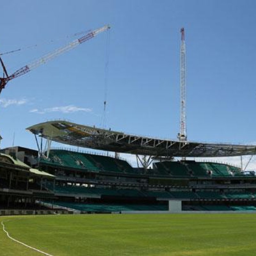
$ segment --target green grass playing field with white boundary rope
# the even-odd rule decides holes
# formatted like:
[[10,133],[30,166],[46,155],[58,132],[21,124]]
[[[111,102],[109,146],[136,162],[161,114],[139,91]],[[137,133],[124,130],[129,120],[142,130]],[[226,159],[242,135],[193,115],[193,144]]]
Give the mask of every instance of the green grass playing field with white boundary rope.
[[[0,217],[9,234],[54,256],[256,255],[256,214]],[[36,256],[0,230],[1,256]]]

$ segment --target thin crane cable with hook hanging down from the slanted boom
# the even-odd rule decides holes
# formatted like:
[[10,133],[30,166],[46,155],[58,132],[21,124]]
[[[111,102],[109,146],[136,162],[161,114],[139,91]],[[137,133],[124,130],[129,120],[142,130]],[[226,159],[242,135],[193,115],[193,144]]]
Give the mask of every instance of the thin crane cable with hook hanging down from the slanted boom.
[[108,96],[108,60],[109,60],[109,31],[107,30],[107,41],[106,41],[106,63],[105,63],[105,84],[104,84],[104,101],[103,101],[103,116],[102,116],[102,126],[107,128],[107,96]]

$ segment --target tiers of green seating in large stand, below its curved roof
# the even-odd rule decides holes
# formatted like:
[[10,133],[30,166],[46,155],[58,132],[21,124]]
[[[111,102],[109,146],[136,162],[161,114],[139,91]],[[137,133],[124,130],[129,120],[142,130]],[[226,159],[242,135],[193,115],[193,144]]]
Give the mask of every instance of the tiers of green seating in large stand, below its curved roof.
[[256,176],[228,164],[162,161],[144,170],[111,156],[51,149],[38,166],[54,177],[41,185],[53,196],[40,200],[51,207],[168,211],[169,201],[180,200],[183,211],[256,210]]

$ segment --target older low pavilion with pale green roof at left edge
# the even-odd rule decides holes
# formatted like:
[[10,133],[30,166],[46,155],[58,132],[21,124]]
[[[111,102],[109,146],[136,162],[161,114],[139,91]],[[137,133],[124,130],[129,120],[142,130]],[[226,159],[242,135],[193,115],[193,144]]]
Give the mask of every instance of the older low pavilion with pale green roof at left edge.
[[0,153],[0,209],[35,208],[36,200],[55,198],[43,186],[54,175],[31,168],[15,156]]

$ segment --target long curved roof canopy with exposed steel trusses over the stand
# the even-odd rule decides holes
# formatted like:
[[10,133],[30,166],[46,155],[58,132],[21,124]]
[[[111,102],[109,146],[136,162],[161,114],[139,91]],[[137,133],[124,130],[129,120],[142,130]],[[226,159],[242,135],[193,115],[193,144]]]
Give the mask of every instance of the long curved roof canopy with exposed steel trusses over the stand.
[[256,155],[256,145],[163,140],[74,124],[68,121],[49,121],[35,124],[26,130],[63,144],[135,155],[168,157]]

